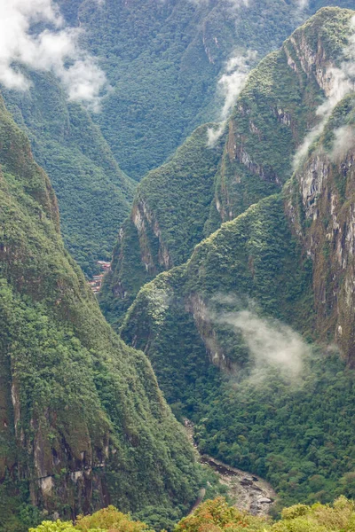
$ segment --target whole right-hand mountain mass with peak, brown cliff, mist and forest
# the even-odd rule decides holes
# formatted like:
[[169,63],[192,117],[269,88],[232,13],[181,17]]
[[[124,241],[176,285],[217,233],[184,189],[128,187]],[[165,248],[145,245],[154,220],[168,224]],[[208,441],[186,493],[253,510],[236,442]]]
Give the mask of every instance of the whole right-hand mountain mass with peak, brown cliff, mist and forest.
[[328,502],[355,468],[354,14],[319,11],[250,74],[211,198],[233,219],[143,286],[121,327],[201,452],[264,476],[280,505]]

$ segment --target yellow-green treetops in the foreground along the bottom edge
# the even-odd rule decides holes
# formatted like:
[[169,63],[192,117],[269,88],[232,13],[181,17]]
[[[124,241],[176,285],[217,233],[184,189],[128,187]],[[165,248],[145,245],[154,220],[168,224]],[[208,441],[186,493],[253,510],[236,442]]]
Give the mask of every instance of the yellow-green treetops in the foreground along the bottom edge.
[[[339,497],[333,505],[295,505],[285,508],[278,521],[254,517],[227,505],[218,497],[200,505],[191,515],[181,520],[174,532],[351,532],[354,530],[354,502]],[[129,515],[118,512],[114,506],[82,517],[74,524],[71,521],[43,521],[29,532],[153,532],[145,523],[133,521]]]

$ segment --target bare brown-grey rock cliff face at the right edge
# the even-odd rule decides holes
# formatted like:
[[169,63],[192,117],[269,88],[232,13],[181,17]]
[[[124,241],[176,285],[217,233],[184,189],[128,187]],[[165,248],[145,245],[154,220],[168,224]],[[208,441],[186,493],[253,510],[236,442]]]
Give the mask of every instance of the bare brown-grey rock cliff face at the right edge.
[[288,185],[285,203],[304,254],[312,258],[320,337],[335,341],[351,365],[355,360],[353,103],[349,95],[335,108],[324,134]]

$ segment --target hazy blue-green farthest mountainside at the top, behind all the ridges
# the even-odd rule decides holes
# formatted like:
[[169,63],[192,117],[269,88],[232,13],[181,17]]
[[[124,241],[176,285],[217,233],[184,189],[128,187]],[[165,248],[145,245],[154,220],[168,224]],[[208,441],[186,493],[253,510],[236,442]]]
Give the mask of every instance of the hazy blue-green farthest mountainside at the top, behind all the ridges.
[[[67,20],[85,28],[114,90],[98,121],[121,168],[140,178],[162,164],[193,129],[219,118],[217,79],[236,53],[277,49],[311,12],[328,4],[253,0],[59,0]],[[352,7],[352,0],[342,2]]]

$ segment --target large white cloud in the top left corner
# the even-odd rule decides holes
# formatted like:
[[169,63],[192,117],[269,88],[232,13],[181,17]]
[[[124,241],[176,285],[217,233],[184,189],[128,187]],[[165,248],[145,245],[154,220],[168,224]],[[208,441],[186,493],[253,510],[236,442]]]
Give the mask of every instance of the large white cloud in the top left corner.
[[[44,23],[39,35],[31,25]],[[78,43],[81,30],[64,27],[52,0],[0,0],[0,82],[27,90],[29,81],[16,65],[51,71],[65,86],[68,98],[99,106],[105,74]]]

